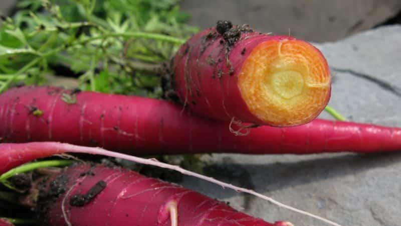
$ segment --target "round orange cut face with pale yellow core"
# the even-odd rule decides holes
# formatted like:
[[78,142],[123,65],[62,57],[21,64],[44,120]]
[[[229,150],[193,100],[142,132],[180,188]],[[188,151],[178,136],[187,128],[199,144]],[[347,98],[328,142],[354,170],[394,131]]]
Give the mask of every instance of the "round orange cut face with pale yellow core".
[[301,40],[269,40],[244,61],[238,85],[248,108],[272,126],[296,126],[316,118],[330,98],[326,59]]

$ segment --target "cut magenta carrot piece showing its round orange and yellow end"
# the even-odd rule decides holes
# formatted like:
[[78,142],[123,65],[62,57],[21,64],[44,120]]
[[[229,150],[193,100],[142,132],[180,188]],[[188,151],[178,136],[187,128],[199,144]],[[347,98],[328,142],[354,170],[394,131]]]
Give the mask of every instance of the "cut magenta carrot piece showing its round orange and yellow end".
[[247,26],[206,29],[172,63],[173,86],[195,114],[277,127],[310,122],[330,97],[327,62],[311,44]]

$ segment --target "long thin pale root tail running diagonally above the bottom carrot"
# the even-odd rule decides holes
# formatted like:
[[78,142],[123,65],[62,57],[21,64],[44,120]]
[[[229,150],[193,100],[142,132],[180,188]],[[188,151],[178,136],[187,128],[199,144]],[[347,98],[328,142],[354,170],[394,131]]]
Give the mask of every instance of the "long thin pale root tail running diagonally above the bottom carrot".
[[[50,143],[54,144],[54,148],[59,150],[59,151],[74,152],[74,153],[88,153],[88,154],[95,154],[95,155],[105,155],[105,156],[110,156],[110,157],[114,157],[114,158],[120,158],[120,159],[129,160],[129,161],[133,161],[133,162],[141,163],[141,164],[145,164],[145,165],[152,165],[152,166],[157,166],[157,167],[160,167],[160,168],[175,170],[175,171],[178,171],[178,172],[180,172],[182,174],[185,174],[185,175],[188,175],[188,176],[197,177],[197,178],[200,178],[200,179],[203,179],[203,180],[218,184],[218,185],[222,186],[223,188],[228,187],[228,188],[231,188],[233,190],[236,190],[237,192],[245,192],[245,193],[248,193],[248,194],[255,195],[255,196],[260,197],[260,198],[262,198],[264,200],[270,201],[271,203],[273,203],[275,205],[278,205],[280,207],[292,210],[294,212],[301,213],[303,215],[307,215],[307,216],[313,217],[315,219],[319,219],[319,220],[321,220],[323,222],[326,222],[328,224],[331,224],[331,225],[334,225],[334,226],[341,226],[340,224],[338,224],[336,222],[333,222],[331,220],[328,220],[326,218],[323,218],[321,216],[318,216],[318,215],[306,212],[304,210],[297,209],[297,208],[294,208],[292,206],[289,206],[289,205],[283,204],[281,202],[278,202],[278,201],[274,200],[273,198],[268,197],[268,196],[263,195],[263,194],[260,194],[260,193],[254,191],[254,190],[246,189],[246,188],[242,188],[242,187],[237,187],[237,186],[234,186],[232,184],[219,181],[219,180],[217,180],[217,179],[215,179],[213,177],[208,177],[208,176],[205,176],[205,175],[202,175],[202,174],[198,174],[198,173],[195,173],[195,172],[192,172],[192,171],[189,171],[189,170],[182,169],[181,167],[176,166],[176,165],[170,165],[170,164],[167,164],[167,163],[158,162],[158,161],[154,161],[154,160],[151,160],[151,159],[144,159],[144,158],[139,158],[139,157],[135,157],[135,156],[131,156],[131,155],[126,155],[126,154],[121,154],[121,153],[117,153],[117,152],[107,151],[107,150],[102,149],[102,148],[92,148],[92,147],[71,145],[71,144],[58,143],[58,142],[46,142],[46,143],[47,144],[50,144]],[[291,224],[289,224],[289,225],[291,226]]]

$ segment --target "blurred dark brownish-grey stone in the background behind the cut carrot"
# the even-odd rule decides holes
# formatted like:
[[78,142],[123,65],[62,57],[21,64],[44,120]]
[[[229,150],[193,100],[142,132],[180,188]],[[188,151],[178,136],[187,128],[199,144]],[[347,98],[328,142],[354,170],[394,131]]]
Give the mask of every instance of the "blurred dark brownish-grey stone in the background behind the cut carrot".
[[334,41],[366,30],[401,10],[399,0],[182,0],[191,24],[217,20],[250,24],[263,32],[291,34],[308,41]]

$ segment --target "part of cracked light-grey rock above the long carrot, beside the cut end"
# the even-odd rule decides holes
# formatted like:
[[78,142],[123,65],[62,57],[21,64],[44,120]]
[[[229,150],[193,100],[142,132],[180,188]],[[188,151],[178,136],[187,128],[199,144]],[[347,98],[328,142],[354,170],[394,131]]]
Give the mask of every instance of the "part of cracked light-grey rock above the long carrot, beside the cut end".
[[401,26],[317,47],[332,69],[330,105],[353,121],[401,127]]

